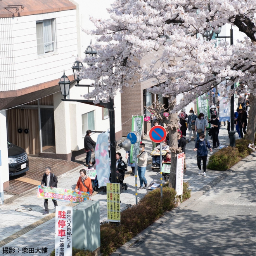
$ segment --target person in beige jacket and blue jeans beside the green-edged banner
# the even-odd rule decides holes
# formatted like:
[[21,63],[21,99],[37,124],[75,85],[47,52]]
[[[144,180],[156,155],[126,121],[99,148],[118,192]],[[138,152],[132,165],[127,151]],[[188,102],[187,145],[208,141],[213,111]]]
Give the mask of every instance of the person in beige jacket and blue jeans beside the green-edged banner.
[[[137,170],[138,170],[138,176],[140,178],[140,189],[147,189],[147,180],[145,178],[145,172],[147,168],[147,152],[145,151],[145,144],[140,144],[139,154],[137,156],[138,158],[138,164],[137,164]],[[143,187],[143,184],[145,187]]]

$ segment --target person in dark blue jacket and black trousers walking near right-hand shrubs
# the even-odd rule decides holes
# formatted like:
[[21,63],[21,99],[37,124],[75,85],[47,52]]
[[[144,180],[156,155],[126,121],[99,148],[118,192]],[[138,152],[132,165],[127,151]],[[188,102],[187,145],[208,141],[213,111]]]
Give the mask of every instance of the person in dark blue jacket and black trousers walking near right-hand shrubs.
[[204,140],[204,133],[201,133],[199,135],[199,140],[195,142],[195,148],[193,149],[194,151],[197,151],[197,166],[199,168],[198,175],[201,174],[202,168],[201,168],[201,161],[203,162],[203,176],[206,177],[206,161],[207,161],[207,156],[208,156],[208,150],[207,148],[212,152],[213,150],[211,149],[211,145],[207,140]]

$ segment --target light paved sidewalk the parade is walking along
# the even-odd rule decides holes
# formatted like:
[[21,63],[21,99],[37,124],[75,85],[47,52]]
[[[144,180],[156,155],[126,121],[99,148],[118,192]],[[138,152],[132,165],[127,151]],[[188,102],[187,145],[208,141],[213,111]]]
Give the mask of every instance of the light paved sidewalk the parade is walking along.
[[[238,136],[237,136],[238,138]],[[222,126],[220,130],[219,140],[222,145],[229,144],[227,133],[227,126]],[[149,138],[144,138],[143,142],[146,145],[147,152],[151,152],[152,142]],[[209,140],[212,145],[212,140]],[[221,175],[221,171],[208,171],[207,176],[197,175],[197,161],[196,152],[193,151],[195,143],[192,141],[186,147],[186,163],[187,172],[184,175],[184,181],[190,183],[192,194],[202,189],[205,185],[212,182],[215,178]],[[125,159],[125,151],[120,150],[123,160]],[[214,151],[213,151],[214,152]],[[209,153],[209,155],[212,153]],[[149,155],[149,160],[151,156]],[[151,161],[150,161],[151,162]],[[147,166],[146,179],[150,183],[154,179],[159,179],[159,172],[152,171],[150,165]],[[58,187],[66,189],[74,189],[79,177],[79,171],[67,174],[59,180]],[[124,190],[121,194],[121,209],[126,208],[126,204],[135,204],[135,178],[134,176],[126,176],[125,182],[128,184],[128,190]],[[138,199],[140,200],[146,193],[146,190],[138,191]],[[107,220],[107,200],[106,193],[99,192],[92,196],[92,200],[99,200],[100,202],[100,221]],[[52,201],[48,201],[50,213],[53,212],[54,205]],[[74,206],[75,204],[58,201],[59,206]],[[19,212],[19,208],[30,208],[30,211]],[[29,209],[28,209],[29,210]],[[15,247],[15,253],[3,255],[21,255],[23,247],[41,248],[47,247],[48,253],[43,255],[50,255],[54,249],[55,240],[55,214],[47,216],[42,215],[44,211],[43,199],[36,197],[36,191],[31,194],[20,197],[19,199],[9,204],[4,204],[0,207],[0,216],[2,222],[0,223],[0,255],[2,255],[2,247]],[[3,240],[5,239],[5,240]],[[18,253],[19,248],[19,253]],[[38,255],[29,254],[29,255]]]

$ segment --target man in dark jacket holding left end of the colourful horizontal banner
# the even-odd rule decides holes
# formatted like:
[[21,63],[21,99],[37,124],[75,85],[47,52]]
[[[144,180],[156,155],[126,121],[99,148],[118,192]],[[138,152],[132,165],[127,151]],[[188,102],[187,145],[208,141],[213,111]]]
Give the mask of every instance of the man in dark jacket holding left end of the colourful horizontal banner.
[[[50,166],[45,167],[45,174],[43,175],[41,187],[42,188],[43,187],[51,187],[51,189],[57,188],[57,183],[58,183],[58,179],[54,175],[54,173],[51,173]],[[54,203],[54,207],[56,208],[56,206],[58,206],[57,201],[52,199],[52,202]],[[45,198],[44,206],[45,206],[45,212],[43,213],[43,215],[49,214],[48,199],[46,199],[46,198]],[[54,213],[55,213],[55,209],[54,209]]]

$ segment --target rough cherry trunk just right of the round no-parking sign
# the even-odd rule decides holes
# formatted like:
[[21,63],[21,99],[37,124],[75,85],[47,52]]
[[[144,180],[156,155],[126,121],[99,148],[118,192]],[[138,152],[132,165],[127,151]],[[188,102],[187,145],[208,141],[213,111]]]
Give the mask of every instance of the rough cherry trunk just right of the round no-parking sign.
[[[169,113],[173,110],[176,101],[171,100],[169,98]],[[170,150],[171,150],[171,171],[170,171],[170,180],[169,180],[169,187],[174,188],[176,187],[176,165],[177,165],[177,153],[180,152],[178,149],[178,138],[177,138],[177,130],[178,130],[178,120],[177,114],[171,114],[169,116],[169,137],[170,137]]]

